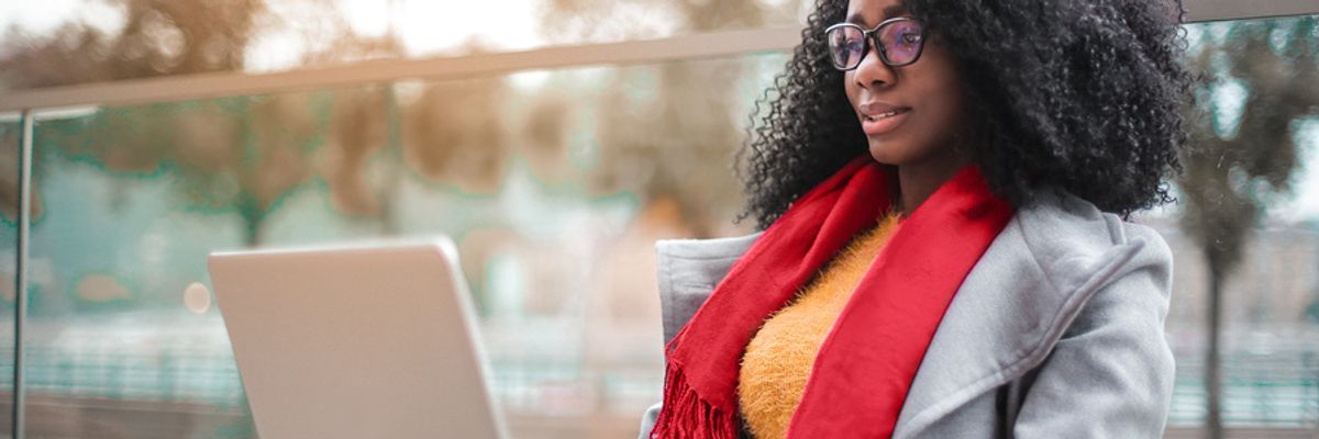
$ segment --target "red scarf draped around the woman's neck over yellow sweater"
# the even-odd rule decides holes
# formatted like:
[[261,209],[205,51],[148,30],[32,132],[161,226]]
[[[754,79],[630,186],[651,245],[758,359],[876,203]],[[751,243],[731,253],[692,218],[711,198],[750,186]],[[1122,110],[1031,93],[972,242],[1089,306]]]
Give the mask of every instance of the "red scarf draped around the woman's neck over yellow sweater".
[[[869,154],[802,195],[733,264],[666,348],[652,438],[737,438],[747,343],[853,235],[889,208]],[[820,345],[789,438],[888,438],[939,320],[1013,215],[967,165],[894,232]]]

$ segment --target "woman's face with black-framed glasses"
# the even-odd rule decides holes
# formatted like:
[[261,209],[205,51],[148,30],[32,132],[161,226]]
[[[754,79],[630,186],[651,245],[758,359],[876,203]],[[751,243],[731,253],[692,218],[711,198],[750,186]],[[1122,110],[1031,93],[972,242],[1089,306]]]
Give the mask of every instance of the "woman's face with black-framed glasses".
[[[869,30],[907,12],[900,0],[851,0],[847,16]],[[954,132],[963,129],[966,99],[952,54],[929,32],[921,57],[911,65],[888,66],[873,45],[868,49],[861,63],[843,75],[843,87],[871,156],[896,166],[951,158]]]

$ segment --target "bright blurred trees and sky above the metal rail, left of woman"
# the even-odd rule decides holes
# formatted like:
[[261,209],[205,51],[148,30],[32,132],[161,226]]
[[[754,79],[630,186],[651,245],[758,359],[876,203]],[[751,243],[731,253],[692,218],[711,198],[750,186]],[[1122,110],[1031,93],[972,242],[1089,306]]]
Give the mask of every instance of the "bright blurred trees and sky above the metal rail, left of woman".
[[[268,73],[797,25],[802,0],[45,1],[0,8],[0,88]],[[32,17],[41,17],[33,20]],[[78,66],[78,69],[67,69]]]

